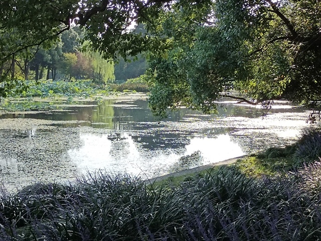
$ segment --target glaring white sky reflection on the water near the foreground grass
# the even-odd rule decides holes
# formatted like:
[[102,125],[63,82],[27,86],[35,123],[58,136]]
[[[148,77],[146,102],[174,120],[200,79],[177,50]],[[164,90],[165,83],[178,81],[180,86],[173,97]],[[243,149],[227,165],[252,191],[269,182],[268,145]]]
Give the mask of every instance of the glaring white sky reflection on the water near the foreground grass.
[[[109,172],[128,172],[151,177],[173,169],[183,170],[244,155],[240,146],[233,143],[228,135],[191,138],[185,147],[166,149],[148,149],[135,142],[127,133],[119,141],[109,140],[108,137],[107,134],[80,134],[83,145],[79,149],[69,150],[69,158],[82,172],[105,169]],[[200,152],[202,162],[190,161],[188,167],[180,163],[182,157],[196,152]]]

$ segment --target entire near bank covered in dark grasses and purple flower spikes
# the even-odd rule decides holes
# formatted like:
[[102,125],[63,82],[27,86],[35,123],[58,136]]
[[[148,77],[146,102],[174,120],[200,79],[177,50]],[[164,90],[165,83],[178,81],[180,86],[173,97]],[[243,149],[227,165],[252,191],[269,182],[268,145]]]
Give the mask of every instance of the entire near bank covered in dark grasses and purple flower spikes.
[[320,154],[314,129],[291,146],[183,179],[94,172],[3,189],[0,239],[319,240]]

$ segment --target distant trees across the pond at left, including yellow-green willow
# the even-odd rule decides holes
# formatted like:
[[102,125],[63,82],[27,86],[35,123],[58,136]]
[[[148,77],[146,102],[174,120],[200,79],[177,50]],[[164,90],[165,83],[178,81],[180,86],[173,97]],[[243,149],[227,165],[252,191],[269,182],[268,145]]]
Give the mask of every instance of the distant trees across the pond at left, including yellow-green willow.
[[25,54],[14,55],[14,61],[0,66],[0,74],[7,65],[11,77],[22,79],[64,79],[66,81],[92,79],[95,83],[114,80],[114,64],[82,41],[83,31],[74,27],[59,36],[53,45],[43,44]]

